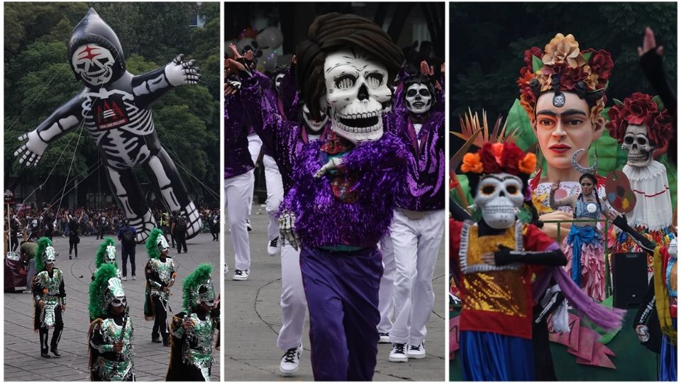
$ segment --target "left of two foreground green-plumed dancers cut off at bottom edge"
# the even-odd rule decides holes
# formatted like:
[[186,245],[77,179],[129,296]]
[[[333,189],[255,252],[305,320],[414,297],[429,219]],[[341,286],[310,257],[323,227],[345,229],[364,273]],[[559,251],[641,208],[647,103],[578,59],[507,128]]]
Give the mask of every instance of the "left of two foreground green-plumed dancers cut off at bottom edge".
[[126,292],[115,265],[105,263],[90,284],[88,331],[90,379],[93,382],[132,382],[133,323]]

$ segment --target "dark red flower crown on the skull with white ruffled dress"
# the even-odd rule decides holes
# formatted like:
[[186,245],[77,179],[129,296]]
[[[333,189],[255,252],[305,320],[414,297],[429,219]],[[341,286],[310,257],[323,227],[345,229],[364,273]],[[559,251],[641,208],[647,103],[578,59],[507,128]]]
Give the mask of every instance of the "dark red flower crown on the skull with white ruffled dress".
[[657,148],[655,156],[663,154],[672,136],[672,115],[660,101],[660,97],[636,92],[624,99],[624,102],[613,100],[614,105],[609,109],[610,121],[605,126],[610,136],[617,143],[624,143],[624,135],[629,125],[645,125],[648,127],[648,140]]

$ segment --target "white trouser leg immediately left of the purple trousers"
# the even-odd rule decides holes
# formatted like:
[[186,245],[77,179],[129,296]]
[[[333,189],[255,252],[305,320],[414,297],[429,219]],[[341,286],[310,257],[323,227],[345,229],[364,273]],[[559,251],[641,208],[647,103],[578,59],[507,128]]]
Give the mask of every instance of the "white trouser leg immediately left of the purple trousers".
[[282,329],[277,347],[285,351],[298,347],[303,340],[303,325],[307,314],[307,301],[300,274],[300,251],[287,242],[282,245]]

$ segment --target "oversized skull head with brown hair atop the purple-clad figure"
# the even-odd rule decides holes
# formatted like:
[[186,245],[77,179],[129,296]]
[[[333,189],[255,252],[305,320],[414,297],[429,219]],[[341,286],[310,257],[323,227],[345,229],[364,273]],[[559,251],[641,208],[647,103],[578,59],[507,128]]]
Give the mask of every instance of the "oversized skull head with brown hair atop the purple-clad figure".
[[404,57],[387,33],[360,16],[318,16],[296,48],[296,81],[315,121],[352,143],[378,140],[392,109],[390,84]]

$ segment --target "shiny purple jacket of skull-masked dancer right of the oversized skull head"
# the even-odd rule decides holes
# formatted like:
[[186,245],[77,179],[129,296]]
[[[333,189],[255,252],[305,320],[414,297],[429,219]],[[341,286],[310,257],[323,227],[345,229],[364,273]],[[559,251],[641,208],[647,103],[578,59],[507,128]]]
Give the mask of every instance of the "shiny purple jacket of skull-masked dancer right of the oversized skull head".
[[431,112],[416,135],[405,110],[389,113],[387,130],[408,148],[406,181],[400,185],[397,206],[414,211],[445,209],[445,115]]

